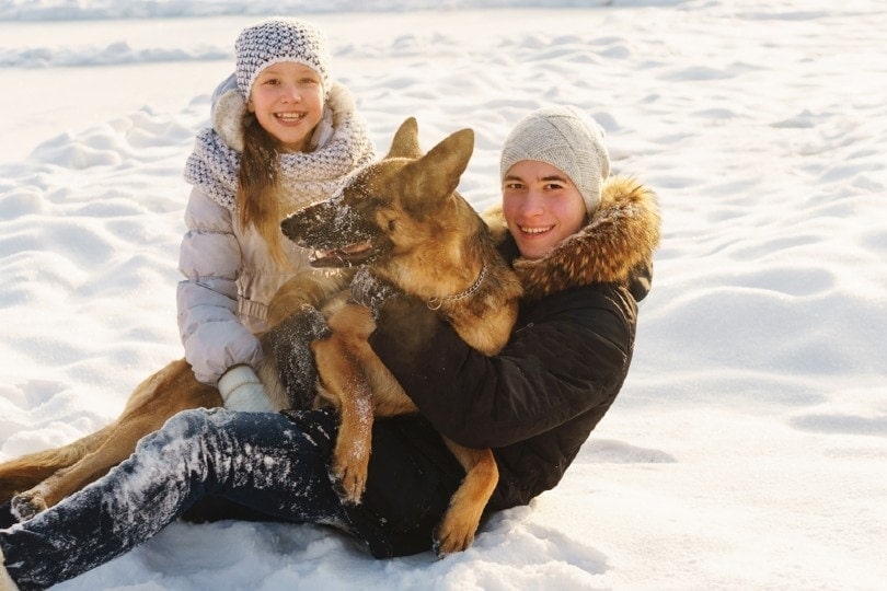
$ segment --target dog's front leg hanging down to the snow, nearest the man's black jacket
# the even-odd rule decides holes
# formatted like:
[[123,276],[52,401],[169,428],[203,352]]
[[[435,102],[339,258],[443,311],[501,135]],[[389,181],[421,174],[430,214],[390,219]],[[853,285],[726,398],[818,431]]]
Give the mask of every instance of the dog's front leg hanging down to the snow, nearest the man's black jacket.
[[461,552],[474,542],[481,515],[499,480],[499,468],[491,450],[463,448],[446,437],[444,441],[465,468],[465,478],[435,531],[434,547],[438,557]]

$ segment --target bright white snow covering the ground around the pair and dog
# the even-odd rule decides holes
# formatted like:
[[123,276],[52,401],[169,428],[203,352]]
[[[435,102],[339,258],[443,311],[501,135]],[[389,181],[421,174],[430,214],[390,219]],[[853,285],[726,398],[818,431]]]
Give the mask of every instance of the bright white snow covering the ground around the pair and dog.
[[380,150],[407,116],[426,148],[474,128],[477,209],[521,115],[598,118],[663,209],[629,380],[563,483],[458,556],[175,523],[58,589],[883,588],[879,0],[0,1],[0,461],[181,357],[182,170],[234,37],[277,13],[326,31]]

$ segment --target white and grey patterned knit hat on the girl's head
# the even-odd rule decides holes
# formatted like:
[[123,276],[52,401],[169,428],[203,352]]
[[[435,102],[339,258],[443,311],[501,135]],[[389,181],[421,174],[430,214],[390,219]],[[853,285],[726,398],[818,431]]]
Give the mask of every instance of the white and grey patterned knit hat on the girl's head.
[[330,56],[323,33],[311,23],[270,19],[244,28],[234,43],[238,89],[244,99],[258,73],[273,63],[292,61],[308,66],[329,89]]

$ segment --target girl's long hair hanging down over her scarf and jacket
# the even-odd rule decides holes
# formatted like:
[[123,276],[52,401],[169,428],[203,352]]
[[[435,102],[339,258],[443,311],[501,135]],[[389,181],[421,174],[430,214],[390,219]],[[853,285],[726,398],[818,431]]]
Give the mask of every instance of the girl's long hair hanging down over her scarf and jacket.
[[280,233],[279,142],[249,111],[243,113],[241,128],[243,152],[238,170],[238,222],[244,230],[251,225],[255,228],[268,244],[272,258],[289,267]]

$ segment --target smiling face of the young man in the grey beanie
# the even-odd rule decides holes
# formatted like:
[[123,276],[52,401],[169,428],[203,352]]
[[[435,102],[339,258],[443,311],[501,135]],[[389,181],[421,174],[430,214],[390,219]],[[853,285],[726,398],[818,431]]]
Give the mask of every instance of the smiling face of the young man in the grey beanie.
[[503,213],[520,254],[541,258],[585,224],[583,196],[558,169],[521,160],[505,174]]

